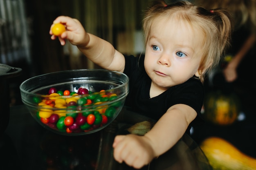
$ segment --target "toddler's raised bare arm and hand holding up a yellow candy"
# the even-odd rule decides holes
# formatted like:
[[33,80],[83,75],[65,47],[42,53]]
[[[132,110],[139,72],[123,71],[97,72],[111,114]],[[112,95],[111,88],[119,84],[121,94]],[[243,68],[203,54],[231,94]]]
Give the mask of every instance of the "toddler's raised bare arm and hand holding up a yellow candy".
[[[117,51],[109,42],[87,33],[78,20],[67,16],[59,16],[54,20],[52,26],[56,23],[62,23],[66,26],[66,31],[58,37],[61,45],[65,45],[65,40],[69,40],[89,60],[102,68],[111,71],[124,71],[124,55]],[[57,36],[53,35],[51,29],[49,33],[52,35],[52,40],[55,40]]]

